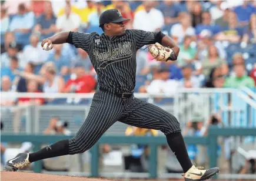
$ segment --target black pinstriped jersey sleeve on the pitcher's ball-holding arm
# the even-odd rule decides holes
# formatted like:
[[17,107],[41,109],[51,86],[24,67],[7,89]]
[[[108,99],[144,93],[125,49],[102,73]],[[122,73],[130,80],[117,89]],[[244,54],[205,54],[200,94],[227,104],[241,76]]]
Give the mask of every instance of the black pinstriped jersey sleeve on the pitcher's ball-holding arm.
[[90,42],[93,42],[93,38],[94,33],[69,32],[67,43],[74,45],[75,48],[82,48],[88,52]]

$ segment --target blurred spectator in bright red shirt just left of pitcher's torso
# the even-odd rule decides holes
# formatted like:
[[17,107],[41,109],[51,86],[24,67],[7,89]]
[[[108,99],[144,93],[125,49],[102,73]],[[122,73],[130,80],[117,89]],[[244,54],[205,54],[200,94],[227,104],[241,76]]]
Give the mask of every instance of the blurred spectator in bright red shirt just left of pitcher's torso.
[[82,63],[78,62],[75,65],[74,73],[76,78],[69,79],[65,85],[64,92],[75,93],[91,93],[95,92],[96,80],[90,74],[85,73],[85,68]]

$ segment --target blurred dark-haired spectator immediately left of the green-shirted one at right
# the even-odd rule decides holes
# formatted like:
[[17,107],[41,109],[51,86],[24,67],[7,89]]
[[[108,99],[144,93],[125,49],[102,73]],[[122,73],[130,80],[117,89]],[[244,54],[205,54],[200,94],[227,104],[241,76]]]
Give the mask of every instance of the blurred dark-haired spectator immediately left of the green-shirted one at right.
[[205,88],[224,88],[225,78],[222,74],[222,69],[216,67],[211,69],[211,73],[205,82]]

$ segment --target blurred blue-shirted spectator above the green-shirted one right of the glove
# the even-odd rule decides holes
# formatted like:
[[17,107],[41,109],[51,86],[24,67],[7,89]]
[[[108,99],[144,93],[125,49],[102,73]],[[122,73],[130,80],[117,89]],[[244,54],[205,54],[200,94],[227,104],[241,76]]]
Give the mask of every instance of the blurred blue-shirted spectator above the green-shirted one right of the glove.
[[199,35],[204,29],[211,31],[213,35],[220,32],[220,27],[218,27],[218,25],[212,24],[210,12],[202,13],[202,24],[199,24],[195,27],[195,32],[197,35]]

